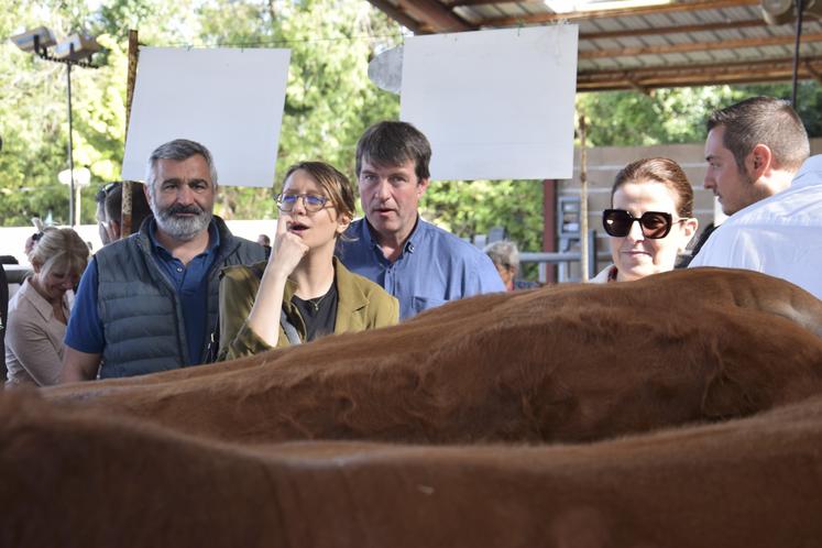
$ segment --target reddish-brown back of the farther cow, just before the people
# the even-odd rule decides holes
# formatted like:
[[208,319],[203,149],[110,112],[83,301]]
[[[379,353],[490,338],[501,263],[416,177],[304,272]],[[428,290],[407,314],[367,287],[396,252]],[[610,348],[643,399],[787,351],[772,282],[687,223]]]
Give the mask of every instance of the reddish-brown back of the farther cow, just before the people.
[[70,385],[54,399],[222,440],[582,441],[822,392],[822,303],[698,268],[451,303],[245,360]]

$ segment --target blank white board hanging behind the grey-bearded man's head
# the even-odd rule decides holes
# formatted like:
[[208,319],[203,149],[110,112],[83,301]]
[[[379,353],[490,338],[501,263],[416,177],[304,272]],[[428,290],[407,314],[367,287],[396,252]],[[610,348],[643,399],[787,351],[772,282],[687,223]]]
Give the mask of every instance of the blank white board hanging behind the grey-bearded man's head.
[[174,139],[211,152],[220,185],[271,187],[288,50],[143,47],[122,177],[143,180],[151,153]]

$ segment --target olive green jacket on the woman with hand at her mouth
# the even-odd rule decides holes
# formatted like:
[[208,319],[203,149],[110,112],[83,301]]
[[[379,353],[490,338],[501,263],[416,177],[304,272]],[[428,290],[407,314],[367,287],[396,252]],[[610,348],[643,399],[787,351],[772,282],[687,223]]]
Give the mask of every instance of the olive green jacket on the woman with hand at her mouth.
[[[251,266],[235,265],[222,270],[220,280],[220,350],[218,360],[233,360],[271,350],[248,325],[251,307],[265,271],[266,262]],[[333,260],[337,284],[337,319],[333,332],[344,333],[393,326],[399,318],[399,304],[380,285],[351,273]],[[305,322],[292,303],[297,285],[288,280],[283,295],[283,309],[305,340]],[[280,327],[278,347],[287,347],[288,338]]]

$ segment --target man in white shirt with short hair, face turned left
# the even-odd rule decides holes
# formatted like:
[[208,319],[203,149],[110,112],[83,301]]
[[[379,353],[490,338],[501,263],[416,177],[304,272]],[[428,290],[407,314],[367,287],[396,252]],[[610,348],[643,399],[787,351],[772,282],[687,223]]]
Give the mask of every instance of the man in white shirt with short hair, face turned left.
[[[731,216],[690,266],[748,268],[820,295],[820,162],[788,101],[754,97],[708,121],[704,186]],[[797,178],[791,185],[794,175]],[[815,292],[813,287],[816,287]]]

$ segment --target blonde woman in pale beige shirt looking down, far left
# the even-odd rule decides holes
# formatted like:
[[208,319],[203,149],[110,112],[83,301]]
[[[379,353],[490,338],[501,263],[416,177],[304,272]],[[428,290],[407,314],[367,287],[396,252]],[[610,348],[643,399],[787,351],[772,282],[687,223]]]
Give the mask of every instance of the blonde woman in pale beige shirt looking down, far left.
[[9,303],[7,386],[59,382],[72,289],[86,268],[88,255],[88,246],[74,230],[43,230],[29,253],[34,274]]

